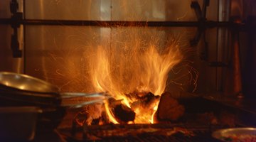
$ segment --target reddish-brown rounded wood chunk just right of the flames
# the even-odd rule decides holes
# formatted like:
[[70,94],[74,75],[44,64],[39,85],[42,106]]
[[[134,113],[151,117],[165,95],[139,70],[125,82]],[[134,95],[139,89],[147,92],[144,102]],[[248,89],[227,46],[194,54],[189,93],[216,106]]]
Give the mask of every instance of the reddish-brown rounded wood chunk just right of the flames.
[[179,104],[176,99],[171,97],[169,92],[161,94],[159,106],[157,109],[157,118],[159,120],[177,121],[183,116],[185,108]]

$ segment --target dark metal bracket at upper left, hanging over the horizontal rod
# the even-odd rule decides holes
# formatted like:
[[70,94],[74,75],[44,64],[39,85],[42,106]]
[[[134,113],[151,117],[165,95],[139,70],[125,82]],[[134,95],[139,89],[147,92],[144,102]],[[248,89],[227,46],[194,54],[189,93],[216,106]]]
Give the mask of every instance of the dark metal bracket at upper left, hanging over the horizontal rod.
[[11,9],[11,28],[14,29],[14,33],[11,35],[11,50],[13,53],[14,58],[21,58],[22,51],[19,48],[18,43],[18,28],[21,24],[18,21],[23,19],[23,13],[18,12],[18,1],[12,0],[10,2],[10,9]]

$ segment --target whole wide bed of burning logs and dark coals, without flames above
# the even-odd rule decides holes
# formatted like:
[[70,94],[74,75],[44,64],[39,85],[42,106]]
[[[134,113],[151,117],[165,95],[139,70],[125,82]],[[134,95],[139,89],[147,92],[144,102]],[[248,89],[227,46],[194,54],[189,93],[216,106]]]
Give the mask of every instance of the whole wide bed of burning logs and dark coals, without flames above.
[[[174,99],[169,92],[161,96],[149,93],[131,93],[134,98],[129,105],[122,99],[108,99],[104,104],[93,104],[75,116],[83,125],[107,124],[176,124],[198,123],[205,125],[235,126],[235,115],[220,104],[207,99]],[[218,105],[218,106],[216,106]]]

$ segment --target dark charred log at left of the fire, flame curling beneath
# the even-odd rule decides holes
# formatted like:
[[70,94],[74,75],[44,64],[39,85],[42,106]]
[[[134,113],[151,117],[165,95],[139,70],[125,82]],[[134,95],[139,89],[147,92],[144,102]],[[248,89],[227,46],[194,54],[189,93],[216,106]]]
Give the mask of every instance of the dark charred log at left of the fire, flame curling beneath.
[[128,121],[134,121],[135,113],[129,107],[121,103],[121,100],[113,98],[109,99],[109,107],[114,114],[114,118],[117,119],[119,124],[127,124]]

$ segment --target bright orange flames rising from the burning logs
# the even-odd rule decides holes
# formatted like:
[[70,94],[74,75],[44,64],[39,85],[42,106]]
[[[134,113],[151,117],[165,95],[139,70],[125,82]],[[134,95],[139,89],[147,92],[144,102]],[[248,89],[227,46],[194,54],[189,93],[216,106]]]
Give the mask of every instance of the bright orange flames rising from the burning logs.
[[[161,47],[159,38],[163,35],[154,31],[143,33],[138,28],[129,28],[129,32],[117,28],[117,31],[112,35],[115,40],[110,41],[111,44],[98,45],[90,52],[90,78],[95,92],[108,92],[131,108],[136,97],[127,97],[126,94],[152,92],[161,95],[166,88],[169,71],[182,60],[183,55],[174,40]],[[136,108],[134,123],[154,123],[158,103]],[[105,109],[110,121],[118,124],[107,102]]]

